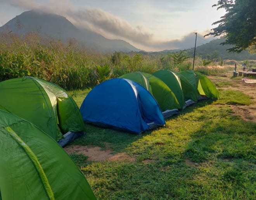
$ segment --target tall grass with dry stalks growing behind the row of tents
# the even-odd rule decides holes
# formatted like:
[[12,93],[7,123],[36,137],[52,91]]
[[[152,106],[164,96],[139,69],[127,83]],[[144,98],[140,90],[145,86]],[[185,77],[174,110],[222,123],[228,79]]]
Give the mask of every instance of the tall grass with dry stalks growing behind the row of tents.
[[[178,62],[178,61],[182,62]],[[195,63],[200,62],[196,59]],[[75,40],[67,44],[29,33],[0,35],[0,81],[33,76],[51,81],[67,90],[90,88],[109,78],[125,73],[160,69],[183,71],[192,69],[192,59],[180,53],[98,53],[81,47]],[[195,68],[214,74],[220,68]],[[224,68],[223,68],[224,69]]]

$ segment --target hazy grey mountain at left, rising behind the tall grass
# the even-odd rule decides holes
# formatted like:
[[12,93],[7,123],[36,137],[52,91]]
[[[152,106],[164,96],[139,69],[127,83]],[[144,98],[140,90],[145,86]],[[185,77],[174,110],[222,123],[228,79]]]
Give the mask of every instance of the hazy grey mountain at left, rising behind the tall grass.
[[0,32],[12,31],[16,34],[36,32],[42,37],[61,39],[63,43],[75,39],[89,49],[101,52],[140,51],[123,40],[111,40],[95,32],[78,29],[69,20],[60,15],[30,10],[23,12],[0,27]]

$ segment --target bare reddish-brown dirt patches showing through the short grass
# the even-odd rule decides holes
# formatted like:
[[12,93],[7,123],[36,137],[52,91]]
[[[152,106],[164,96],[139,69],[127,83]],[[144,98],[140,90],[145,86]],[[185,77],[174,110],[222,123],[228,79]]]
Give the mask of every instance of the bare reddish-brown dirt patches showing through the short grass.
[[[234,115],[242,117],[245,121],[255,122],[256,123],[256,83],[245,83],[240,79],[231,79],[232,72],[227,73],[222,76],[208,76],[208,78],[213,81],[213,83],[218,82],[230,82],[232,85],[228,85],[226,88],[221,88],[223,90],[237,90],[243,92],[244,94],[253,97],[253,104],[246,105],[229,105],[233,110]],[[222,105],[217,105],[222,106]],[[136,155],[130,156],[126,153],[113,154],[111,150],[102,150],[100,147],[89,147],[89,146],[79,146],[73,145],[64,148],[68,154],[84,154],[88,156],[88,161],[128,161],[135,162]],[[144,164],[152,163],[153,160],[145,160]],[[196,165],[189,160],[186,160],[188,165]]]

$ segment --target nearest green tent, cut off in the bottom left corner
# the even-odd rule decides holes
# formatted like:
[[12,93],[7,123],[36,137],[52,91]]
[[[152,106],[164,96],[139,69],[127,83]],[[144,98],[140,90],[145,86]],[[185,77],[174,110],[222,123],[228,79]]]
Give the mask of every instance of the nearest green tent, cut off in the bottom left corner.
[[56,141],[0,110],[0,199],[96,199],[80,169]]

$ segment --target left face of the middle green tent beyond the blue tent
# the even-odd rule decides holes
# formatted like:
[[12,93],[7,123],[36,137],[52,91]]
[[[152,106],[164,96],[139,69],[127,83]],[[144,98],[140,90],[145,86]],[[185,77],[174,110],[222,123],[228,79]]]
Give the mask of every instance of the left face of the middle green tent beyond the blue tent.
[[169,70],[159,70],[152,75],[164,81],[171,91],[173,91],[182,108],[186,106],[180,78],[175,73]]

